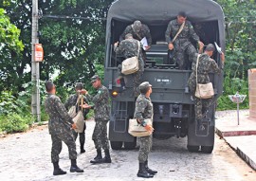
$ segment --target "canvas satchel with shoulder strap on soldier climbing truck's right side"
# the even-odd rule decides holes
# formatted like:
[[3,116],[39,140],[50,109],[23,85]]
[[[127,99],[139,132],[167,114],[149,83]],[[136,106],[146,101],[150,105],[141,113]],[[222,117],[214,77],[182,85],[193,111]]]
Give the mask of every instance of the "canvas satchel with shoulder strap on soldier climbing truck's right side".
[[198,83],[197,81],[197,67],[199,62],[200,54],[197,56],[196,60],[196,89],[195,89],[195,97],[199,99],[210,99],[214,96],[214,90],[212,83]]

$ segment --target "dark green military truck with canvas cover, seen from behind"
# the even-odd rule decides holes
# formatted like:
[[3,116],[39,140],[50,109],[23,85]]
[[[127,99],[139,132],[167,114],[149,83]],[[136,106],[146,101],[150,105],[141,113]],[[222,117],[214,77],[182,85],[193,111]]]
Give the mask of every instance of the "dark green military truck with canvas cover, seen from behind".
[[[133,96],[133,75],[126,77],[126,90],[119,92],[118,65],[123,61],[117,57],[113,47],[119,36],[135,20],[146,24],[152,34],[153,45],[146,52],[143,81],[153,85],[151,99],[154,104],[154,134],[158,139],[171,136],[187,136],[190,152],[211,153],[214,146],[215,102],[223,91],[223,75],[210,74],[214,88],[214,99],[202,121],[204,129],[197,129],[194,118],[194,102],[187,81],[192,70],[179,70],[168,58],[165,31],[168,23],[175,19],[179,11],[185,11],[188,20],[205,44],[216,42],[225,50],[225,21],[222,8],[211,0],[117,0],[107,14],[106,54],[104,64],[104,84],[112,95],[109,139],[111,147],[118,150],[133,149],[137,137],[128,134],[129,118],[135,111]],[[220,64],[218,53],[213,59]],[[168,140],[167,140],[168,141]]]

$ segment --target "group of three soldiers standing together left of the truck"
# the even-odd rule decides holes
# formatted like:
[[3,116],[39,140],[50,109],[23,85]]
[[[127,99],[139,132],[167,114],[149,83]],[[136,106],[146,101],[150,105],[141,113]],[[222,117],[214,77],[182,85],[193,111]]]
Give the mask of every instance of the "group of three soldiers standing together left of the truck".
[[[59,154],[62,151],[62,141],[68,147],[69,159],[71,160],[70,172],[83,172],[77,166],[77,152],[76,152],[76,138],[78,133],[74,130],[77,125],[73,119],[68,115],[68,109],[71,106],[76,106],[76,112],[83,109],[83,117],[85,118],[88,109],[93,109],[95,114],[95,128],[92,139],[97,150],[97,155],[90,162],[93,164],[98,163],[111,163],[109,153],[109,142],[107,138],[107,122],[110,117],[109,107],[109,92],[108,89],[101,84],[101,78],[95,75],[91,78],[94,88],[97,89],[97,94],[91,96],[85,89],[82,89],[82,83],[76,83],[76,94],[71,95],[68,100],[63,104],[59,97],[56,96],[56,86],[52,81],[46,81],[47,97],[45,101],[46,113],[49,116],[48,130],[51,135],[52,148],[51,148],[51,162],[53,164],[53,175],[65,174],[59,166]],[[79,97],[82,96],[83,104],[78,104]],[[92,102],[92,104],[89,104]],[[84,123],[85,124],[85,123]],[[82,133],[80,133],[81,154],[85,152],[85,131],[84,125]],[[104,150],[105,156],[102,157],[101,149]]]

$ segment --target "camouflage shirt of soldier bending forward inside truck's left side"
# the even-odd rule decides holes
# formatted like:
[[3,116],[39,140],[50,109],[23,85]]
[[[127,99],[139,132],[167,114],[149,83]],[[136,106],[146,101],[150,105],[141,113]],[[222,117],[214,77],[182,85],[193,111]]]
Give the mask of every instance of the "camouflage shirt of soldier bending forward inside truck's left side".
[[133,37],[140,41],[142,40],[144,37],[146,37],[147,41],[148,41],[148,45],[151,46],[152,45],[152,37],[151,37],[151,33],[150,33],[150,29],[148,26],[142,24],[142,27],[141,27],[141,30],[136,33],[132,27],[132,25],[130,26],[127,26],[123,33],[120,35],[120,38],[119,38],[119,42],[121,42],[122,40],[124,40],[125,38],[125,35],[128,34],[128,33],[131,33],[133,35]]

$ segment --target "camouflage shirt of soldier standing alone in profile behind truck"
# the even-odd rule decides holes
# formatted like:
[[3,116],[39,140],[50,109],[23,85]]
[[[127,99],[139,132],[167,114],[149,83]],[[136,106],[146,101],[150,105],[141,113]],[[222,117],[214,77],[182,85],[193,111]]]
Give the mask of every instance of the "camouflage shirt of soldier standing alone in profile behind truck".
[[146,98],[145,95],[140,94],[136,100],[136,109],[134,118],[143,120],[145,118],[153,117],[153,104],[150,98]]

